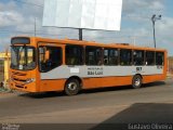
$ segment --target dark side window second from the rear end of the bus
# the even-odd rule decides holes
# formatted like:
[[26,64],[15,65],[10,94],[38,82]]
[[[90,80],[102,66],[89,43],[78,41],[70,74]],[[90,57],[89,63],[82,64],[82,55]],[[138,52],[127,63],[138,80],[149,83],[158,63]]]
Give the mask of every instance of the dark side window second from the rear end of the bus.
[[155,65],[155,52],[146,51],[146,65]]

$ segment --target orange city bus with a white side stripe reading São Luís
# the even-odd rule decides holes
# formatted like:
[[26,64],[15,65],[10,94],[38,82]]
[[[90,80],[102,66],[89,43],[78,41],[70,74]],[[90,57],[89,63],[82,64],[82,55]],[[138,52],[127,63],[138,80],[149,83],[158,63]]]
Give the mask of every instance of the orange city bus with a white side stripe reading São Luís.
[[13,37],[10,87],[25,92],[132,86],[167,78],[167,50],[72,39]]

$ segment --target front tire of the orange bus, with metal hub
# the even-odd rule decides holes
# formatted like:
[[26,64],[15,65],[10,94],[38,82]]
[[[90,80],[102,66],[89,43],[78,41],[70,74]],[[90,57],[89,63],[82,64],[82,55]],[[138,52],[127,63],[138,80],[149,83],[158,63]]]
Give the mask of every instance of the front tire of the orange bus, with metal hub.
[[68,79],[65,84],[65,93],[67,95],[76,95],[80,91],[80,83],[77,79]]

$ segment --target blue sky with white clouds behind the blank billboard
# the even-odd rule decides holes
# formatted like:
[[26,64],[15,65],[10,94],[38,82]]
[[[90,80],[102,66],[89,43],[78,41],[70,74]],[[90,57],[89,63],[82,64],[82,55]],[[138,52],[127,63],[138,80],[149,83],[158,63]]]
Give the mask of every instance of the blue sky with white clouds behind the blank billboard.
[[[103,43],[131,43],[154,47],[154,14],[162,15],[156,21],[156,46],[167,49],[173,56],[173,0],[122,0],[120,31],[83,30],[83,39]],[[78,39],[78,30],[43,27],[44,0],[0,0],[0,51],[10,46],[11,37],[36,36],[46,38]]]

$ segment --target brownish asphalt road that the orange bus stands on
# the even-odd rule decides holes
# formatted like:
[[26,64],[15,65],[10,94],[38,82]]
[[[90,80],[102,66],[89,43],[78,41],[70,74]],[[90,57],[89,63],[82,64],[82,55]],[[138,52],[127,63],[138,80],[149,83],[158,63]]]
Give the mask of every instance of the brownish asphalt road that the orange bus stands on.
[[103,128],[104,123],[171,123],[173,79],[145,84],[141,89],[86,90],[75,96],[63,93],[0,94],[0,122],[80,123],[95,129]]

